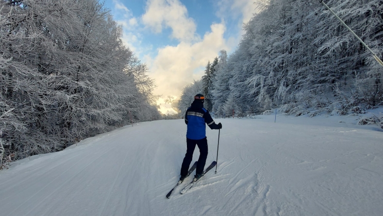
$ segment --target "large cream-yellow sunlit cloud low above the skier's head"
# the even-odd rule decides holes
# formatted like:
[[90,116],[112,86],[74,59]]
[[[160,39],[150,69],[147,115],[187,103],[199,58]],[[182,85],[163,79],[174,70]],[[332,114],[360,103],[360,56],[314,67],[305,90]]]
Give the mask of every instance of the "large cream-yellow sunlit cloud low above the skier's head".
[[228,49],[227,41],[223,38],[225,30],[223,23],[213,24],[211,32],[206,33],[199,42],[181,42],[177,46],[159,49],[154,59],[148,59],[150,76],[158,86],[154,93],[180,96],[187,84],[199,80],[203,71],[193,71],[204,68],[209,60],[213,61],[219,50]]

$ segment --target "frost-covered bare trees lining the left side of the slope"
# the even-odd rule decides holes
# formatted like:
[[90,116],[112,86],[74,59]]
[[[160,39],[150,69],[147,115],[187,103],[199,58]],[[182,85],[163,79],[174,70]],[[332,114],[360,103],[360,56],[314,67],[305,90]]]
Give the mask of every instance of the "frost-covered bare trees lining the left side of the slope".
[[2,162],[161,117],[147,66],[98,0],[1,0],[0,16]]

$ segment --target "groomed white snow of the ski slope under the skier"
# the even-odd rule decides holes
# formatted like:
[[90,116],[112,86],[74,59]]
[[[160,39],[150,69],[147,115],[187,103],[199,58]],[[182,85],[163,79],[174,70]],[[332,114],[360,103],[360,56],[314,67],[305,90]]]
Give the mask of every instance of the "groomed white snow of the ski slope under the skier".
[[[217,174],[181,195],[189,176],[170,199],[186,152],[183,119],[125,126],[0,171],[0,215],[381,216],[383,133],[357,117],[216,119]],[[207,130],[207,166],[217,136]]]

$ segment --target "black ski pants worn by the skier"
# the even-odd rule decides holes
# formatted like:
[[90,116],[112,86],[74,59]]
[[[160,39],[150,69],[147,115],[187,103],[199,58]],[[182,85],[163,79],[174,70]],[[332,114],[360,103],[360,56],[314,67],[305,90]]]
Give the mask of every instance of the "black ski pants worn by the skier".
[[206,137],[199,140],[186,138],[186,145],[187,145],[187,150],[186,150],[186,154],[185,154],[185,157],[183,158],[183,162],[181,166],[181,176],[187,175],[187,171],[189,170],[190,163],[193,160],[193,152],[194,152],[194,149],[196,148],[196,145],[200,149],[200,158],[198,158],[196,174],[202,174],[206,164],[206,158],[207,158]]

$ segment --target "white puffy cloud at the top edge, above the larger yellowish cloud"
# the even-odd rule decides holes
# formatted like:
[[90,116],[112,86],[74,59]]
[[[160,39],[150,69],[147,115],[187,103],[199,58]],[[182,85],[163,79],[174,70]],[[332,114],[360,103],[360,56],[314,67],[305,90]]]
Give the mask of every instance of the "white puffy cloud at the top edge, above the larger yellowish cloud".
[[142,21],[155,33],[161,33],[163,27],[171,28],[171,37],[180,41],[199,39],[197,25],[179,0],[148,0]]

